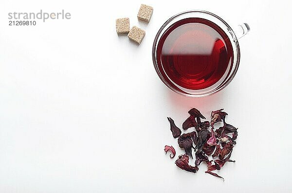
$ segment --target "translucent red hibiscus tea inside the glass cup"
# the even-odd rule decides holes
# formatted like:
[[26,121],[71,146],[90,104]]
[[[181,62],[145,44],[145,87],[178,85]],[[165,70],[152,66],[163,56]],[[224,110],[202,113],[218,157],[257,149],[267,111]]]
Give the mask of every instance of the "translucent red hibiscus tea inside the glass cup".
[[169,85],[200,90],[227,77],[234,56],[230,39],[217,24],[184,18],[165,30],[156,57]]

